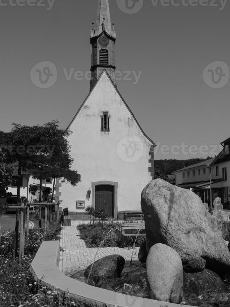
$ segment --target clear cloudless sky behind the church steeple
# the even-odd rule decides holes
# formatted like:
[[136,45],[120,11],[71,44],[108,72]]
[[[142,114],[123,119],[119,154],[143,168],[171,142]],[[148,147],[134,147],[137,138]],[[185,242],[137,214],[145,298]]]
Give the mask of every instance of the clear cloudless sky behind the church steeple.
[[[217,154],[220,142],[230,137],[230,1],[109,3],[117,33],[116,70],[123,79],[117,88],[158,144],[155,159]],[[74,73],[90,70],[97,4],[0,0],[0,130],[10,131],[12,122],[42,125],[53,119],[61,128],[68,126],[89,93],[88,77],[76,80]],[[32,68],[43,61],[57,69],[57,80],[48,88],[32,82]],[[126,80],[125,71],[132,80]],[[139,80],[135,74],[141,74]]]

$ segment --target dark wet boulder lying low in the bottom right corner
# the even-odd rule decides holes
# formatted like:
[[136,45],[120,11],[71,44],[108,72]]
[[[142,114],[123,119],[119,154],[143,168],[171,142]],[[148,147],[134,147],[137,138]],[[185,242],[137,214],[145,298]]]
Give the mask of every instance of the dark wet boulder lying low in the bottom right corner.
[[205,269],[198,273],[184,273],[184,298],[187,305],[229,307],[230,293],[217,273]]

